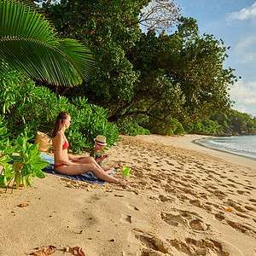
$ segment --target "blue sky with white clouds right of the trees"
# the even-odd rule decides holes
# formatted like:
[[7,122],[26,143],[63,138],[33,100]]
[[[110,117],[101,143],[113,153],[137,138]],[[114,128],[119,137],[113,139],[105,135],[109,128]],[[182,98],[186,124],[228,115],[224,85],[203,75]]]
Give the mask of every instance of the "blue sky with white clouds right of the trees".
[[229,58],[224,68],[234,68],[236,84],[230,86],[233,109],[256,116],[256,1],[174,0],[181,15],[197,20],[201,34],[224,40]]

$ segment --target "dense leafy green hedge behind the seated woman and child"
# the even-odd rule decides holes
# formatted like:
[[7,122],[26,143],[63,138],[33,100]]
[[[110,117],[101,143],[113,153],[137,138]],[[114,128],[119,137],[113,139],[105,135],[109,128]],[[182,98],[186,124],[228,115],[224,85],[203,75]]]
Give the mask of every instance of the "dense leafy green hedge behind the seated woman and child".
[[73,153],[81,153],[94,145],[94,138],[102,134],[111,147],[118,139],[115,125],[108,123],[103,108],[87,103],[84,98],[68,102],[64,96],[56,97],[45,87],[37,87],[22,74],[10,71],[0,73],[0,114],[4,115],[10,138],[26,135],[34,139],[38,131],[50,133],[55,117],[61,111],[71,114],[73,123],[67,130],[67,139]]

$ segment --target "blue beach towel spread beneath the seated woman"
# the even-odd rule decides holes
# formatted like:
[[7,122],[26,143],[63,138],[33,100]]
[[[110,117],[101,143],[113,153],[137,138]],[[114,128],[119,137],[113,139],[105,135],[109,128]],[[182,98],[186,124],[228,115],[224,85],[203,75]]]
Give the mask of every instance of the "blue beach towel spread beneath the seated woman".
[[[54,158],[48,154],[40,154],[40,157],[49,162],[49,166],[46,166],[44,169],[42,169],[42,171],[45,173],[51,173],[51,174],[55,174],[55,175],[58,175],[61,177],[68,177],[70,179],[79,180],[79,181],[83,181],[86,183],[105,184],[105,181],[97,178],[92,172],[85,172],[85,173],[79,174],[79,175],[67,175],[67,174],[61,174],[59,172],[55,172],[54,171]],[[110,173],[109,175],[112,176],[113,172]]]

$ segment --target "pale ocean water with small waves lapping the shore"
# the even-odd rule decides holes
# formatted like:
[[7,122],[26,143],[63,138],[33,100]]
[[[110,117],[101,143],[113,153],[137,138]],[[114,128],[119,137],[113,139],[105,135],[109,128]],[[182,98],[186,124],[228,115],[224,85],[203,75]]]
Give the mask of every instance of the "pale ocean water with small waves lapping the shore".
[[207,148],[222,150],[256,160],[256,135],[234,137],[209,137],[195,140]]

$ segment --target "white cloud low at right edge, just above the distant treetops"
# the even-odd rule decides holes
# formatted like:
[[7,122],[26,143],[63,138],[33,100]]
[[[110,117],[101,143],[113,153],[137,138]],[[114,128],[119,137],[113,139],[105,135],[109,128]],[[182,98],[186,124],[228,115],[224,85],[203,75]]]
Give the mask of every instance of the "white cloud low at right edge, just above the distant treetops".
[[239,104],[255,104],[256,108],[256,82],[248,82],[245,84],[242,79],[239,80],[231,87],[230,97]]

